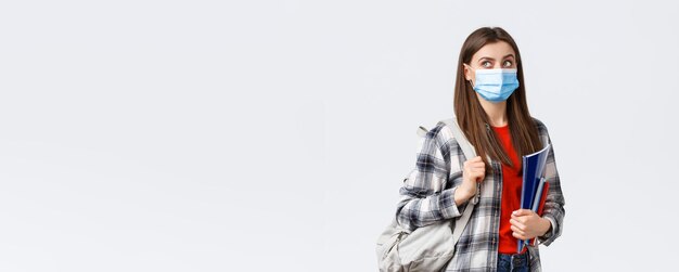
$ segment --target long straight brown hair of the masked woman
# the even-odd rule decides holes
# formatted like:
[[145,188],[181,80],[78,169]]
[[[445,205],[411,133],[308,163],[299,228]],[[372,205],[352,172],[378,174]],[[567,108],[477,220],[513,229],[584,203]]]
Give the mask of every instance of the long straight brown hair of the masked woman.
[[[507,100],[507,118],[509,122],[512,145],[516,151],[520,164],[521,156],[534,153],[542,148],[538,137],[538,129],[528,113],[526,103],[526,81],[524,80],[523,64],[518,47],[514,39],[500,27],[482,27],[473,31],[462,44],[458,61],[458,76],[454,87],[454,113],[460,128],[469,141],[476,148],[476,154],[481,156],[489,167],[486,156],[492,160],[500,160],[507,165],[513,165],[508,154],[502,148],[498,135],[490,129],[489,118],[481,102],[476,96],[472,85],[465,80],[463,63],[470,64],[472,55],[488,43],[504,41],[509,43],[516,53],[516,70],[518,77],[518,88]],[[467,158],[470,159],[470,158]]]

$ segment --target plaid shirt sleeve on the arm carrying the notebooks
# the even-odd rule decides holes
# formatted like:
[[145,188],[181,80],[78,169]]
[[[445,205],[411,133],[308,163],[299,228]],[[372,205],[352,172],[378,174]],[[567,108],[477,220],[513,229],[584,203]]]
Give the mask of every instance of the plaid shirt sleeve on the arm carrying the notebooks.
[[554,239],[561,236],[563,231],[563,218],[565,216],[565,199],[561,191],[561,181],[559,179],[559,171],[556,170],[556,159],[554,156],[554,145],[552,144],[547,128],[543,124],[538,121],[538,127],[541,126],[547,142],[550,144],[549,155],[547,157],[547,166],[545,168],[545,177],[549,182],[549,192],[547,192],[547,199],[545,200],[545,209],[542,210],[542,218],[549,220],[552,224],[551,231],[548,231],[545,235],[538,237],[538,242],[541,245],[549,246]]

